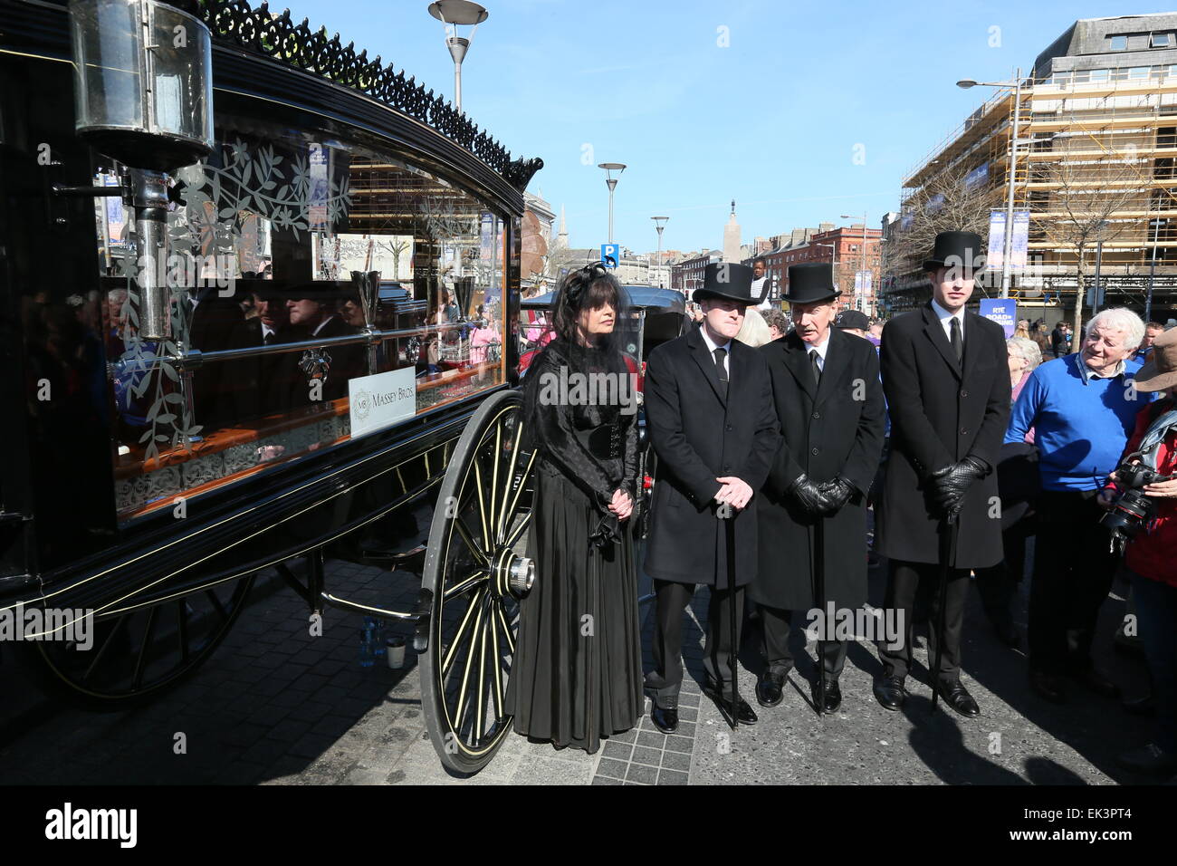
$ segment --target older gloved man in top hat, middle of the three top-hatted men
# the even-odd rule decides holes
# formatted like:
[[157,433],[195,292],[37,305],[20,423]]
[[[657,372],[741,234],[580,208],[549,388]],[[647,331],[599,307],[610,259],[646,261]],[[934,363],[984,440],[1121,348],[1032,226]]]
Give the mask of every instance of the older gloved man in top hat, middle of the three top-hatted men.
[[[791,265],[784,299],[794,328],[760,349],[782,434],[757,509],[759,570],[750,591],[764,635],[756,688],[764,707],[780,703],[793,667],[790,612],[814,620],[819,610],[818,634],[829,636],[818,641],[825,683],[814,683],[813,702],[837,712],[849,642],[830,634],[826,607],[853,610],[866,601],[866,491],[883,450],[883,389],[875,346],[832,326],[838,293],[832,265]],[[823,587],[814,586],[817,568]]]

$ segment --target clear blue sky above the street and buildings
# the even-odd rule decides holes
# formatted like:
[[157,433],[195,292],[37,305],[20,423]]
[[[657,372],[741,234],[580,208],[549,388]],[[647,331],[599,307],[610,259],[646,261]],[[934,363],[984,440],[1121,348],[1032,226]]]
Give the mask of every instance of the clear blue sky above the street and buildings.
[[[722,247],[732,198],[745,243],[864,210],[877,226],[904,173],[992,92],[955,81],[1008,80],[1077,18],[1166,11],[1117,0],[483,5],[490,19],[463,66],[467,114],[513,156],[544,159],[531,190],[565,206],[573,246],[606,240],[597,164],[627,164],[614,234],[638,252],[657,249],[654,214],[671,217],[665,249]],[[452,99],[427,6],[290,2],[295,20]]]

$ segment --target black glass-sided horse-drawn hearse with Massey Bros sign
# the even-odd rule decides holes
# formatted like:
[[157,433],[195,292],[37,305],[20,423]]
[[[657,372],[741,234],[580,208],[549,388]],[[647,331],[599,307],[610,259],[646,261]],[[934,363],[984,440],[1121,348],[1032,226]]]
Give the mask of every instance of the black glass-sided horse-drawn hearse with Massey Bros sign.
[[[0,2],[0,610],[98,634],[21,644],[48,680],[153,696],[278,567],[312,615],[415,621],[441,760],[490,760],[532,580],[513,385],[540,166],[265,4]],[[425,498],[415,610],[324,584],[325,546]]]

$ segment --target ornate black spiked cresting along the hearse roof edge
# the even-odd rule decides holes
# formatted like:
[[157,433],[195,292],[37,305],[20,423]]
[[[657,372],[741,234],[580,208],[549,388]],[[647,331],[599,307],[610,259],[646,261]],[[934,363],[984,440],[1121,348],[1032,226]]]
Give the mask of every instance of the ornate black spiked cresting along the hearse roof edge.
[[432,90],[397,72],[392,64],[384,66],[379,55],[368,60],[366,49],[357,54],[355,44],[345,46],[338,33],[328,38],[326,27],[312,31],[305,18],[294,24],[290,9],[275,15],[266,2],[254,9],[246,0],[202,0],[200,13],[214,39],[379,99],[461,145],[520,192],[544,167],[538,157],[512,160],[503,145]]

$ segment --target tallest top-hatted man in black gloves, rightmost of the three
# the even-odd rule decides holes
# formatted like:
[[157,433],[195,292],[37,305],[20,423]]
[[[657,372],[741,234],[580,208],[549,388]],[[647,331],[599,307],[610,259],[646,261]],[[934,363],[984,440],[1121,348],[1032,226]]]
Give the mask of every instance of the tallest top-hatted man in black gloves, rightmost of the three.
[[[970,570],[1002,558],[993,468],[1010,417],[1005,332],[965,311],[973,276],[983,269],[978,234],[940,232],[924,263],[932,299],[883,331],[891,454],[877,514],[877,549],[891,560],[884,606],[902,614],[906,632],[879,646],[883,677],[875,683],[875,696],[886,709],[899,709],[907,694],[919,583],[944,581],[929,587],[929,667],[935,667],[937,649],[942,657],[933,687],[957,713],[980,713],[960,683],[960,636]],[[947,541],[953,533],[955,546]]]

